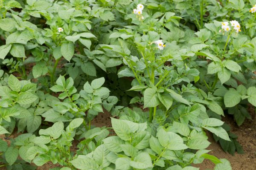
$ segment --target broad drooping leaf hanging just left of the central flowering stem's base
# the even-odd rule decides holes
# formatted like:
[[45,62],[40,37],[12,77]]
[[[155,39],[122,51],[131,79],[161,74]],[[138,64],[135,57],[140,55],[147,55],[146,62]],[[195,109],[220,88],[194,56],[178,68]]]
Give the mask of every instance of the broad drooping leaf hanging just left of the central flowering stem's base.
[[159,105],[157,93],[153,88],[147,88],[144,92],[144,107],[150,108]]

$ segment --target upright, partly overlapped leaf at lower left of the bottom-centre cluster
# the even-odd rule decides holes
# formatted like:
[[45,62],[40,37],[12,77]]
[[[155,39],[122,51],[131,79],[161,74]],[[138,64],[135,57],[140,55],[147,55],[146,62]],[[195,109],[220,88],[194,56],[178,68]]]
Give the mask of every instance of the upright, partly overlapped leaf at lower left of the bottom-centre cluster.
[[108,165],[111,164],[111,162],[106,159],[109,152],[110,151],[105,147],[105,145],[101,144],[93,151],[93,158],[97,164],[102,167],[108,167]]

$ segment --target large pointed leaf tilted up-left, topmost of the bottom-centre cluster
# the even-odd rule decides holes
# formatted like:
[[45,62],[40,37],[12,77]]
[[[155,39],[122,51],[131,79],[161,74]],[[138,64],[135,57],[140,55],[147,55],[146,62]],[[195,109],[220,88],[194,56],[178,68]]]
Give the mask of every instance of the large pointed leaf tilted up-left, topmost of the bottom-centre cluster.
[[131,136],[131,129],[128,124],[120,119],[111,118],[112,127],[119,138],[128,141]]

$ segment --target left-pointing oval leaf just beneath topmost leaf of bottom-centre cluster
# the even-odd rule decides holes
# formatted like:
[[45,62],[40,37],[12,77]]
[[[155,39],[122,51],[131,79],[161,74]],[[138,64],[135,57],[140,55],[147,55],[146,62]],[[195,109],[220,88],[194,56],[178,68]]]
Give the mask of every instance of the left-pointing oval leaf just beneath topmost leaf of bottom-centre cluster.
[[102,141],[104,142],[108,150],[114,153],[122,152],[120,144],[124,144],[124,141],[122,141],[122,139],[120,139],[118,136],[110,136],[106,139],[103,139]]

